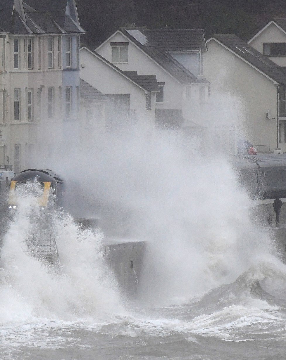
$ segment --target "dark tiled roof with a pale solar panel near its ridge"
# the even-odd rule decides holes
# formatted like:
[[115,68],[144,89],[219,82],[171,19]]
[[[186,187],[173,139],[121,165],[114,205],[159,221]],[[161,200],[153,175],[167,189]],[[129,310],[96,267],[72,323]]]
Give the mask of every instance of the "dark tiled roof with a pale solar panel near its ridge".
[[196,77],[166,51],[207,49],[204,30],[148,30],[122,28],[121,32],[181,84],[208,83]]

